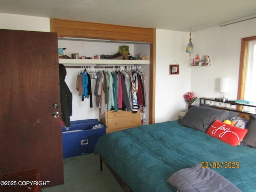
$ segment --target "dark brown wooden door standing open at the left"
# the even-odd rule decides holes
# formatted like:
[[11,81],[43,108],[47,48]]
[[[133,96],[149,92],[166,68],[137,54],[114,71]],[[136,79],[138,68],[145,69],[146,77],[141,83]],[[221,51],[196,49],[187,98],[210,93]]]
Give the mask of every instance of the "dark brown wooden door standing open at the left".
[[57,34],[0,30],[0,88],[1,174],[38,168],[63,184]]

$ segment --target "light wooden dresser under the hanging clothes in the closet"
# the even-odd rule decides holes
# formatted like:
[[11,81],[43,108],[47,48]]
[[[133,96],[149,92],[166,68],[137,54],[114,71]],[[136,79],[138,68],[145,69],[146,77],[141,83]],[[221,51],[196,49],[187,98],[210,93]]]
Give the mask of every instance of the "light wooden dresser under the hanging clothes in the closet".
[[137,113],[111,110],[100,115],[100,122],[107,126],[106,133],[136,127],[141,125],[141,112],[140,110]]

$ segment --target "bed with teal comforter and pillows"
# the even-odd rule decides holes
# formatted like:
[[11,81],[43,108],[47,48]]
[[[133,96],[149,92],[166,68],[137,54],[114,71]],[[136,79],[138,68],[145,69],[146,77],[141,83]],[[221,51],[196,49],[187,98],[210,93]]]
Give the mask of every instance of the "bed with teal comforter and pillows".
[[214,170],[242,192],[255,192],[255,115],[250,115],[246,128],[238,128],[244,136],[237,146],[210,135],[214,132],[210,128],[214,129],[217,121],[224,124],[222,121],[236,116],[236,112],[193,106],[181,120],[106,134],[94,152],[125,184],[125,191],[176,192],[168,178],[199,164],[202,169]]

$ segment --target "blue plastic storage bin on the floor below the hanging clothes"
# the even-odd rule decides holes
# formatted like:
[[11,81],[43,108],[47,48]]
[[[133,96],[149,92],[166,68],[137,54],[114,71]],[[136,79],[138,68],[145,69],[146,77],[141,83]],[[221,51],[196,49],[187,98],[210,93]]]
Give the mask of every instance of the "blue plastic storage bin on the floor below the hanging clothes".
[[98,119],[71,121],[69,130],[62,127],[63,158],[94,152],[100,136],[106,134],[106,126],[92,129],[102,124]]

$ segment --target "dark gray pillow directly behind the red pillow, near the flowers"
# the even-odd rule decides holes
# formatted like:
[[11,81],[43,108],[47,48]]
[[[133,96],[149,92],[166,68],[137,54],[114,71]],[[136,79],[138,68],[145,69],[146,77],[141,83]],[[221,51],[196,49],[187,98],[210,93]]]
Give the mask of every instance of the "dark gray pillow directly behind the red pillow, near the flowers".
[[208,128],[215,120],[224,121],[230,117],[228,111],[217,110],[209,106],[193,106],[186,112],[185,116],[179,120],[179,124],[202,132],[207,132]]

